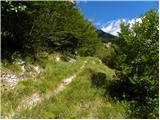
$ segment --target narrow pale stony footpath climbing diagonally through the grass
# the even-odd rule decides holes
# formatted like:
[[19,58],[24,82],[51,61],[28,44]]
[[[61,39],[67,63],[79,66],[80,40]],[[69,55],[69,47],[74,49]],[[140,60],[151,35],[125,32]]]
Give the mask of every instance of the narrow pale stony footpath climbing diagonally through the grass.
[[15,114],[19,113],[22,109],[31,109],[32,107],[41,103],[43,100],[48,100],[50,97],[55,96],[59,92],[63,91],[67,87],[67,85],[69,85],[76,78],[76,76],[83,71],[86,63],[87,61],[84,61],[83,65],[80,67],[80,70],[77,73],[70,76],[69,78],[62,80],[62,82],[58,85],[56,89],[50,90],[44,96],[40,96],[38,93],[33,93],[31,96],[25,97],[15,110],[7,116],[4,116],[4,118],[13,118]]

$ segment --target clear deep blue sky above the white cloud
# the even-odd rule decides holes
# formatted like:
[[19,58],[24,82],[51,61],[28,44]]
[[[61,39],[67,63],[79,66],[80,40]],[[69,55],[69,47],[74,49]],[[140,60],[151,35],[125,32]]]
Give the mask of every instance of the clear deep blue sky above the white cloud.
[[79,1],[77,3],[84,17],[99,29],[119,19],[136,19],[151,8],[158,9],[158,6],[158,1]]

